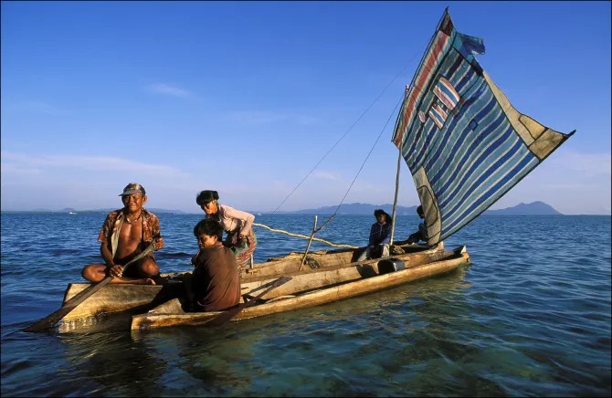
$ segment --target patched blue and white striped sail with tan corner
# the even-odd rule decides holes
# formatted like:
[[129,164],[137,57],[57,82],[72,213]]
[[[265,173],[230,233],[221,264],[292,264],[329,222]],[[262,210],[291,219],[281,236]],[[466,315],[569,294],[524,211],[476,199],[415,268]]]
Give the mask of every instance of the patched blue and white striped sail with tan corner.
[[393,142],[417,185],[428,245],[470,223],[574,133],[515,110],[474,57],[483,53],[445,11],[397,117]]

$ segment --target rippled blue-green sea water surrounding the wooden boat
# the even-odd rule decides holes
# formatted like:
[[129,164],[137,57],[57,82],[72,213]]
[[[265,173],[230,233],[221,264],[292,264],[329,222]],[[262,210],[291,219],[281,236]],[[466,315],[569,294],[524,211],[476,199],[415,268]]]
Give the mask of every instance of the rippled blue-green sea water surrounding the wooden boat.
[[[26,333],[98,261],[104,214],[2,214],[3,396],[609,396],[610,217],[481,216],[470,267],[220,330]],[[200,215],[160,214],[163,272],[191,269]],[[310,235],[312,216],[256,222]],[[319,224],[323,221],[320,217]],[[363,245],[373,216],[318,237]],[[396,238],[417,226],[400,216]],[[256,260],[307,241],[256,227]],[[314,243],[312,249],[329,248]]]

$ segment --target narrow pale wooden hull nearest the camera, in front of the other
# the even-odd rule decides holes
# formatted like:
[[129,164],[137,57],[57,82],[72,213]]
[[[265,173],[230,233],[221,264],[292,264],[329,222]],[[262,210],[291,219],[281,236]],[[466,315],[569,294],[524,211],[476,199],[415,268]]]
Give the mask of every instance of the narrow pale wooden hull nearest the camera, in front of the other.
[[[384,259],[363,265],[338,266],[329,269],[289,274],[290,280],[278,288],[253,299],[259,288],[274,283],[274,278],[257,278],[243,283],[242,299],[255,300],[248,308],[228,320],[257,318],[292,309],[318,306],[332,301],[361,296],[366,293],[393,288],[406,282],[429,278],[455,270],[470,263],[465,246],[437,261],[406,265],[397,259]],[[187,312],[183,299],[171,299],[150,311],[132,317],[132,330],[147,330],[176,325],[204,325],[222,312]]]

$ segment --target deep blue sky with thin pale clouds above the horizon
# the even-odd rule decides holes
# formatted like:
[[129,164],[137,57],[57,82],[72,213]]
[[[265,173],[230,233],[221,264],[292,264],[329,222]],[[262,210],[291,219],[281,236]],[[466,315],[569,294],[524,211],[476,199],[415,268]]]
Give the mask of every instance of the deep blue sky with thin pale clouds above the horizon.
[[577,131],[491,208],[609,215],[610,2],[2,2],[2,210],[137,182],[147,207],[271,211],[329,152],[279,210],[316,208],[371,150],[344,202],[393,203],[396,104],[447,5],[514,107]]

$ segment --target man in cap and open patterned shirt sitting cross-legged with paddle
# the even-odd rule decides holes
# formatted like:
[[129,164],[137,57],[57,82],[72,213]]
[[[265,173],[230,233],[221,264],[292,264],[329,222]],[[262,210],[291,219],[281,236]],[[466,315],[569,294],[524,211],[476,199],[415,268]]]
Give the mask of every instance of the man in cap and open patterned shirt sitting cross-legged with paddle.
[[142,207],[147,196],[140,183],[127,184],[120,196],[123,208],[106,216],[98,236],[105,264],[87,265],[81,275],[95,283],[110,276],[111,283],[155,285],[161,278],[153,250],[164,247],[159,219]]

